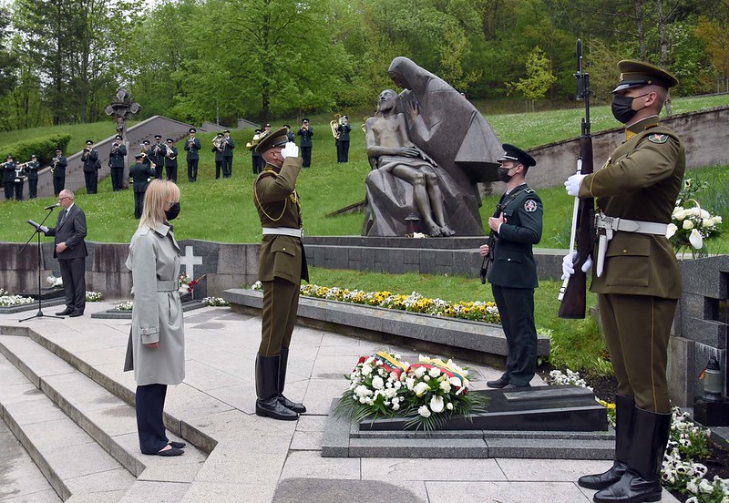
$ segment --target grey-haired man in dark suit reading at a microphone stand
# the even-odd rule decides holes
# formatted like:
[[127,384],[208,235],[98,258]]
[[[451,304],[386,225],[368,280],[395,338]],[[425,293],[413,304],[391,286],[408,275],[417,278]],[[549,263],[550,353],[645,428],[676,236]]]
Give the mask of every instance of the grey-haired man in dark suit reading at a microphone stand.
[[86,307],[86,215],[74,204],[71,190],[61,190],[58,203],[63,210],[58,213],[56,227],[43,226],[40,230],[46,236],[56,238],[53,256],[58,259],[66,294],[66,309],[56,314],[75,318],[81,316]]

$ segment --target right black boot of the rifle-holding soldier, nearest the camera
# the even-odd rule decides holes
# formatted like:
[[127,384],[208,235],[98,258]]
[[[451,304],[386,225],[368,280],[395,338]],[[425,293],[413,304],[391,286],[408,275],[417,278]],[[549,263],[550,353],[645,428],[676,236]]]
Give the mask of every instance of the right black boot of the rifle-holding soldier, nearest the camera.
[[642,503],[661,500],[661,467],[671,415],[635,409],[635,426],[628,469],[612,486],[595,493],[596,503]]

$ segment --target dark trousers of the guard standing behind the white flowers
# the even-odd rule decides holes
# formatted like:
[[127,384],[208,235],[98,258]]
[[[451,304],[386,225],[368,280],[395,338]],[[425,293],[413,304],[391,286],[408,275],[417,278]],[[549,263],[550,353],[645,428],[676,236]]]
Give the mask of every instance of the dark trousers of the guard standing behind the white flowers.
[[537,371],[534,289],[491,285],[507,336],[507,368],[502,377],[515,386],[529,385]]

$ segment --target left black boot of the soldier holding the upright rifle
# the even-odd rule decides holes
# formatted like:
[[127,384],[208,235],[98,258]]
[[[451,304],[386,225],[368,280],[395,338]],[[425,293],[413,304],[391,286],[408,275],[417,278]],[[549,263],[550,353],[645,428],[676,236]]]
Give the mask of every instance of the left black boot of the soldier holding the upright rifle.
[[615,395],[615,461],[606,472],[580,477],[577,483],[581,487],[604,489],[620,480],[622,474],[628,469],[634,417],[635,400],[633,397]]

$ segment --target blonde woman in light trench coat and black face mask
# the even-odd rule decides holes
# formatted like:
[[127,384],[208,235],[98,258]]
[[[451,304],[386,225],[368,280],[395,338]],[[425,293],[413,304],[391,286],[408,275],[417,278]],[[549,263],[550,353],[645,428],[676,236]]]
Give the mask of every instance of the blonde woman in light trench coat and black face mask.
[[169,225],[179,212],[178,186],[169,180],[153,180],[127,259],[134,296],[128,360],[132,356],[137,381],[139,447],[143,454],[158,456],[180,456],[185,447],[182,442],[169,442],[162,420],[167,386],[179,385],[185,378],[178,292],[180,246]]

